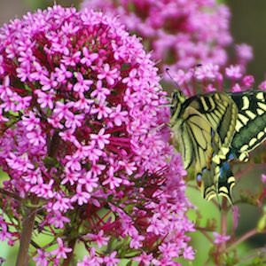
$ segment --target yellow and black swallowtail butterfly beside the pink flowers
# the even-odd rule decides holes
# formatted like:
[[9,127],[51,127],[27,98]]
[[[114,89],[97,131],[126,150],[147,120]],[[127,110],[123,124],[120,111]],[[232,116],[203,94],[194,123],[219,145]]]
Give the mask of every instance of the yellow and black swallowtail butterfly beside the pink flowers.
[[184,168],[193,171],[205,199],[231,200],[230,160],[247,161],[266,138],[266,91],[211,92],[186,98],[176,90],[169,126]]

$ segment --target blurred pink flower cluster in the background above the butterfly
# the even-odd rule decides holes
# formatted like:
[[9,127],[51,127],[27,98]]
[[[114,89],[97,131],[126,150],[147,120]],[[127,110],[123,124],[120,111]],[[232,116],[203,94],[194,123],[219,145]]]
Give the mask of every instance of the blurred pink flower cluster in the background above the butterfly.
[[[163,69],[171,66],[176,72],[199,63],[228,64],[231,13],[215,0],[84,0],[82,8],[118,15],[129,31],[144,39]],[[251,47],[239,44],[235,49],[237,62],[245,68],[253,57]]]

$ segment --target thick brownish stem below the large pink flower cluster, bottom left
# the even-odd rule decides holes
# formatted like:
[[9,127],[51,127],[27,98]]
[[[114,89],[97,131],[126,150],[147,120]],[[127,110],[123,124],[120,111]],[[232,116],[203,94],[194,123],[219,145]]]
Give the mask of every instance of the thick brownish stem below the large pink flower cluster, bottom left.
[[28,247],[31,241],[31,235],[35,225],[35,208],[26,209],[26,215],[22,222],[22,231],[20,234],[20,250],[17,257],[16,266],[27,266],[29,261]]

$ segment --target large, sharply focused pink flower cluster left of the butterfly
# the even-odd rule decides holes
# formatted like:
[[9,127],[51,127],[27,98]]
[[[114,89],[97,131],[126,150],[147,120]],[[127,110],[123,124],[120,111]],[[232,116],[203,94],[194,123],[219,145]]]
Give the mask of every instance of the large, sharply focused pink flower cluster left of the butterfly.
[[55,5],[1,27],[0,51],[0,207],[13,215],[0,238],[19,238],[25,203],[58,246],[40,243],[37,265],[66,259],[69,236],[88,251],[79,265],[192,259],[185,171],[157,130],[167,100],[139,39],[100,12]]

